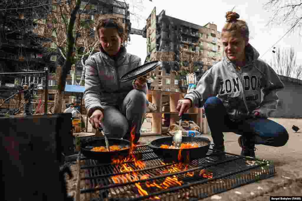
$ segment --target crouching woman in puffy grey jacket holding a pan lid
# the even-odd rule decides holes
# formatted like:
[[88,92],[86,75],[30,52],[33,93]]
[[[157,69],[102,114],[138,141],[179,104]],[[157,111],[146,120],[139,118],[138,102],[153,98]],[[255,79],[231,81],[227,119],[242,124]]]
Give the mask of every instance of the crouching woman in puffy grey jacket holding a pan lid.
[[140,66],[141,59],[122,45],[126,35],[117,19],[100,20],[96,30],[100,51],[85,62],[84,100],[89,121],[96,129],[100,124],[107,137],[126,140],[135,126],[137,143],[146,114],[146,79],[120,82],[120,77]]

